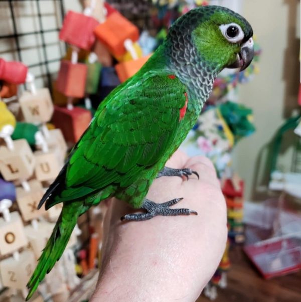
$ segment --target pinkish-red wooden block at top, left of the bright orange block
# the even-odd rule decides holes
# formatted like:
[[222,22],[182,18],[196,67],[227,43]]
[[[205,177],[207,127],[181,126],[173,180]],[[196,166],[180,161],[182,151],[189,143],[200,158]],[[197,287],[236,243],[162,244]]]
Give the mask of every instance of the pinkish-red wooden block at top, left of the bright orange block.
[[95,42],[93,30],[97,25],[98,21],[93,17],[69,11],[60,31],[60,40],[89,50]]

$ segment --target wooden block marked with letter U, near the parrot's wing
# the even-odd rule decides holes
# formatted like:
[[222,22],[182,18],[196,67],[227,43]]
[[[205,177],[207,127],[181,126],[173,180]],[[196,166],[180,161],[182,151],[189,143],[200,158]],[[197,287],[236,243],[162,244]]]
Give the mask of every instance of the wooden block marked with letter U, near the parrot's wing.
[[36,159],[35,175],[37,180],[40,182],[54,180],[62,168],[60,163],[58,163],[55,152],[52,150],[47,153],[36,151],[34,156]]

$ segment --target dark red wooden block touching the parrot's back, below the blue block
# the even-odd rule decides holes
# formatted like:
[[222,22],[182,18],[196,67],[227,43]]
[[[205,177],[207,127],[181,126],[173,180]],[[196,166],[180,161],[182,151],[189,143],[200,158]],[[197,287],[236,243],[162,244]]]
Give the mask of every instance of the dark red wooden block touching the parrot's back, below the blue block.
[[53,123],[60,128],[66,141],[75,143],[89,126],[92,115],[87,109],[74,107],[72,110],[55,106]]

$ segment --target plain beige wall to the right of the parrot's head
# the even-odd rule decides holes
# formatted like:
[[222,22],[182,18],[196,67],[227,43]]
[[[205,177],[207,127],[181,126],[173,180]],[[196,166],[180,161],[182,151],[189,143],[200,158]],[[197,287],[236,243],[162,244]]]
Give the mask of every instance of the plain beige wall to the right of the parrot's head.
[[[266,145],[297,107],[299,81],[299,1],[245,0],[242,15],[262,48],[260,73],[239,89],[239,102],[253,108],[256,133],[234,150],[234,167],[246,182],[246,199],[266,197]],[[284,155],[289,171],[291,152]]]

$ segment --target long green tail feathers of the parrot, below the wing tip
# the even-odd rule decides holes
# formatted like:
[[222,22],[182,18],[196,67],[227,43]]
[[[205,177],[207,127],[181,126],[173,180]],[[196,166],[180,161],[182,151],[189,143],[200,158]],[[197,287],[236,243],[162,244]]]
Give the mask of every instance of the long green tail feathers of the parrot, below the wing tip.
[[81,211],[82,208],[82,202],[64,204],[52,234],[39,258],[39,263],[27,283],[29,293],[26,297],[26,301],[32,297],[45,275],[51,271],[56,261],[62,256],[77,223],[77,218],[83,213]]

